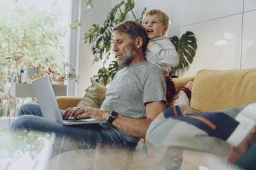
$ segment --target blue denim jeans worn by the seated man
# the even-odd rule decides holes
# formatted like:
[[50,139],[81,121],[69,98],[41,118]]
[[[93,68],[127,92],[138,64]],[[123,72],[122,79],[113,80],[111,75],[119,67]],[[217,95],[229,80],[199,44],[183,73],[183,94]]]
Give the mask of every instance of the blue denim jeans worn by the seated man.
[[127,142],[120,135],[116,134],[107,125],[83,124],[83,125],[61,125],[56,121],[43,118],[39,104],[23,104],[19,109],[19,117],[11,125],[11,129],[36,130],[41,132],[55,132],[70,136],[78,141],[89,145],[120,146],[134,149],[136,144]]

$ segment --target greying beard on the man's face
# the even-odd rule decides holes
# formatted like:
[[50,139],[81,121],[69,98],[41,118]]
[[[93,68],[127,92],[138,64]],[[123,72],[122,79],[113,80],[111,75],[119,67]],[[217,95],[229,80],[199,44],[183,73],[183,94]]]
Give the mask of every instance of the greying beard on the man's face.
[[127,66],[134,60],[136,54],[137,54],[137,51],[136,51],[136,48],[134,47],[134,43],[131,43],[131,45],[129,45],[129,52],[122,53],[123,58],[118,59],[118,64],[120,66]]

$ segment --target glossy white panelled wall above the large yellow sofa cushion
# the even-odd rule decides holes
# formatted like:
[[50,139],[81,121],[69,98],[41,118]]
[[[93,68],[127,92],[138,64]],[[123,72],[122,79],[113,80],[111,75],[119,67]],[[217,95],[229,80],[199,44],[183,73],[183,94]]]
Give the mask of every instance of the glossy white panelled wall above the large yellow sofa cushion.
[[181,34],[193,32],[198,50],[180,77],[201,69],[256,67],[255,0],[182,0],[181,7]]

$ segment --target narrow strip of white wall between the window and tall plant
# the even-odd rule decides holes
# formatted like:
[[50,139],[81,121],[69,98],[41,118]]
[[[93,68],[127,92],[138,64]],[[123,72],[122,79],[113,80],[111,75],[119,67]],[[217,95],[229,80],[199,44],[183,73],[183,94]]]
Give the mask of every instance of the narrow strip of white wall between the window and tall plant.
[[89,77],[93,77],[98,72],[98,69],[103,65],[100,62],[93,63],[94,56],[92,54],[91,45],[84,44],[82,39],[85,32],[92,27],[92,24],[98,23],[103,24],[105,21],[109,10],[111,9],[111,0],[94,0],[94,7],[90,12],[85,12],[85,6],[81,6],[82,15],[81,23],[83,27],[80,29],[80,45],[79,45],[79,59],[78,59],[78,84],[77,84],[77,96],[83,96],[85,94],[85,89],[91,84]]

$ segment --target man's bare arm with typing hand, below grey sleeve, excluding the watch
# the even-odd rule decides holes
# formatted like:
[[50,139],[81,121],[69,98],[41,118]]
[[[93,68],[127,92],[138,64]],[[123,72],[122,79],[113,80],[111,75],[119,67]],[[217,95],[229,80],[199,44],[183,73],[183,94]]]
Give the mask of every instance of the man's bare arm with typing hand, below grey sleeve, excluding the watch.
[[[124,117],[121,114],[118,114],[118,117],[113,121],[113,125],[120,128],[120,130],[137,136],[138,138],[145,138],[150,123],[165,108],[167,108],[165,101],[149,102],[146,104],[145,119]],[[63,119],[67,119],[67,117],[74,117],[75,119],[91,117],[97,121],[103,121],[109,119],[109,111],[96,108],[70,108],[65,110],[62,116]]]

